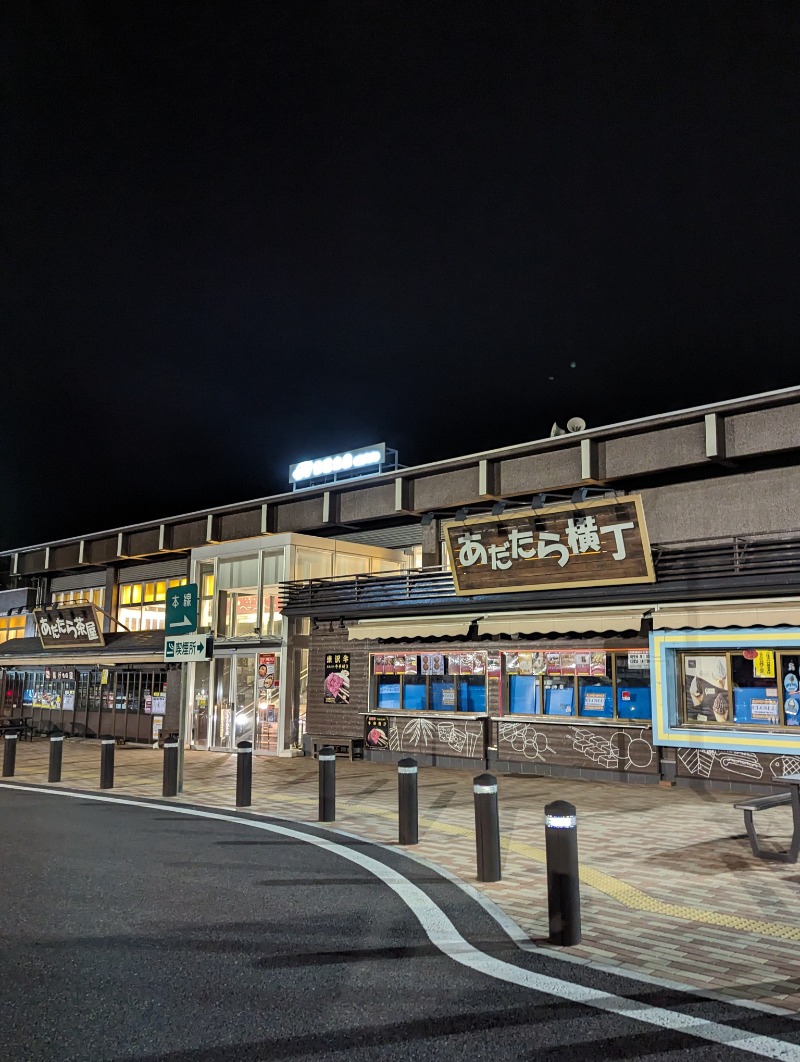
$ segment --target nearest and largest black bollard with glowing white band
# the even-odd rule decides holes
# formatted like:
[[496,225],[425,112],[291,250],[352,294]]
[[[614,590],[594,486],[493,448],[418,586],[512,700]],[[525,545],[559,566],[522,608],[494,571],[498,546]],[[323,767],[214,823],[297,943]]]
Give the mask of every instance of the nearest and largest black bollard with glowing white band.
[[580,944],[580,879],[578,877],[578,819],[565,800],[544,809],[547,853],[547,911],[550,944]]

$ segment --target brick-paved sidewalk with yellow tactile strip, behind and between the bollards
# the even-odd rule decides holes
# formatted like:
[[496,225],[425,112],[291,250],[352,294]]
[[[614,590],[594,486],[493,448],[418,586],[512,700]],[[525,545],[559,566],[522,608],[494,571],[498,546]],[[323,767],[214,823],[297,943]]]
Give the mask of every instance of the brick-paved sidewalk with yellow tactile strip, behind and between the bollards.
[[[14,781],[47,781],[49,742],[20,742]],[[96,789],[100,747],[65,741],[62,786]],[[115,792],[160,799],[163,753],[116,749]],[[177,801],[233,808],[235,757],[187,752]],[[251,810],[317,821],[318,765],[254,756]],[[500,775],[503,880],[475,880],[473,774],[420,771],[420,844],[410,850],[490,896],[533,941],[547,937],[543,808],[578,808],[583,941],[551,949],[579,961],[800,1010],[800,864],[753,858],[738,799],[659,786]],[[12,780],[3,780],[12,781]],[[397,842],[396,769],[337,763],[336,826]],[[789,812],[759,816],[785,843]],[[544,944],[547,948],[546,943]]]

